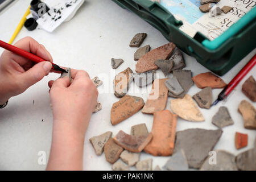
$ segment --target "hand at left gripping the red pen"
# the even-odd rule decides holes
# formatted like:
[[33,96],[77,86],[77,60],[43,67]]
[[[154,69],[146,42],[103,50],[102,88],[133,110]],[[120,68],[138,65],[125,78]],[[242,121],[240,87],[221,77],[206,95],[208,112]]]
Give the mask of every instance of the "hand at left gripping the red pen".
[[36,40],[26,37],[14,44],[15,47],[42,57],[41,63],[35,64],[10,51],[3,51],[0,57],[0,105],[10,97],[23,93],[27,88],[48,75],[52,57],[46,48]]

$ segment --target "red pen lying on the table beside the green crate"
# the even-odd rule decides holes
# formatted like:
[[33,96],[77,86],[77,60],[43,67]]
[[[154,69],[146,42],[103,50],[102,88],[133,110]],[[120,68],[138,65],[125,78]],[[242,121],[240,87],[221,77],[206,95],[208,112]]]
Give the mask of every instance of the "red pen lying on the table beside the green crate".
[[256,55],[251,58],[251,60],[241,69],[239,73],[229,82],[229,84],[222,90],[220,94],[218,94],[218,98],[213,102],[213,105],[216,105],[218,101],[224,100],[232,90],[237,86],[237,84],[242,80],[243,77],[254,67],[256,64]]

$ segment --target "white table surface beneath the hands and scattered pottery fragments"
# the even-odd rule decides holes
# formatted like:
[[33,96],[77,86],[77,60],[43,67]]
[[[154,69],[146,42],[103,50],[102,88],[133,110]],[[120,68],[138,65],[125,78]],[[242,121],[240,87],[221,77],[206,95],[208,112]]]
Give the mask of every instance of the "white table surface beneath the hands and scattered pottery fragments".
[[[30,0],[15,1],[0,13],[1,40],[9,42],[29,3]],[[138,32],[147,33],[147,38],[142,46],[150,44],[151,48],[154,49],[167,43],[167,40],[158,30],[144,22],[137,15],[122,9],[114,2],[110,0],[86,0],[77,11],[75,17],[70,22],[61,24],[54,32],[48,33],[43,30],[27,31],[26,28],[23,28],[15,39],[16,42],[25,36],[31,36],[48,49],[56,64],[75,69],[84,69],[91,78],[99,76],[104,81],[104,85],[98,88],[100,92],[98,101],[102,104],[102,110],[93,114],[85,137],[85,170],[111,169],[111,165],[106,162],[104,154],[96,156],[89,138],[106,131],[113,131],[113,135],[117,134],[119,130],[130,133],[130,127],[138,123],[146,123],[148,130],[151,130],[153,116],[142,114],[141,111],[116,126],[112,126],[110,123],[112,104],[119,100],[113,94],[112,81],[115,74],[127,67],[135,71],[137,62],[133,60],[133,55],[137,48],[130,48],[129,43],[131,38]],[[0,53],[2,52],[3,49],[0,49]],[[254,49],[221,78],[226,83],[232,80],[255,52],[256,50]],[[112,57],[122,58],[125,62],[114,70],[110,64]],[[184,59],[187,64],[185,69],[191,69],[193,76],[208,72],[193,57],[184,54]],[[160,70],[157,73],[159,73],[159,78],[164,78]],[[228,107],[234,120],[234,125],[224,127],[224,133],[214,150],[226,150],[237,155],[253,147],[256,132],[243,127],[242,116],[237,111],[240,101],[249,101],[241,92],[241,86],[250,75],[256,78],[255,67],[243,78],[226,102],[221,102],[210,110],[200,108],[205,117],[205,122],[193,123],[178,118],[177,131],[196,127],[216,130],[217,127],[211,123],[211,119],[218,108],[224,105]],[[169,76],[172,75],[170,74]],[[55,73],[49,74],[49,76],[31,86],[23,94],[11,98],[8,106],[0,110],[0,170],[44,170],[46,168],[46,165],[38,164],[38,152],[46,151],[48,160],[52,135],[52,111],[49,106],[47,82],[58,77],[59,75]],[[140,96],[146,102],[148,96],[146,88],[142,90],[143,94],[136,92],[135,89],[137,89],[137,86],[132,85],[128,94]],[[108,92],[104,90],[108,90]],[[148,90],[151,90],[151,85]],[[199,90],[194,84],[188,94],[192,96]],[[221,89],[213,90],[214,100],[220,91]],[[170,109],[170,100],[172,99],[171,97],[168,98],[166,109]],[[35,102],[34,105],[33,100]],[[253,105],[256,106],[255,103]],[[248,146],[241,150],[236,150],[234,146],[234,134],[236,131],[249,135]],[[156,165],[162,167],[168,160],[168,157],[153,157],[142,152],[141,160],[147,158],[153,158],[153,168]]]

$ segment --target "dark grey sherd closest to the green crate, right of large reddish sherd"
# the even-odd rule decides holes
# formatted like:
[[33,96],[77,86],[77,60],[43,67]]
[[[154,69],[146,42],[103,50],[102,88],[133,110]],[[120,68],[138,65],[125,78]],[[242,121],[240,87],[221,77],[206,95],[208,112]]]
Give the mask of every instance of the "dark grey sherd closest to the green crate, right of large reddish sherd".
[[177,69],[183,69],[186,66],[183,55],[182,55],[180,49],[177,47],[174,49],[174,53],[172,53],[170,60],[174,61],[174,67],[172,67],[172,71],[177,70]]

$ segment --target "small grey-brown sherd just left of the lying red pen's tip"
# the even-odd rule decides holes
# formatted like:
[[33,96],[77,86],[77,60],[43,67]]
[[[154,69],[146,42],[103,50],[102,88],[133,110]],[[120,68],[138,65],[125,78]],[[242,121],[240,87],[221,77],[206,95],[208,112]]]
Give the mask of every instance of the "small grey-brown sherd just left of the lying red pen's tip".
[[212,88],[209,86],[205,87],[200,92],[193,95],[193,99],[201,108],[210,109],[212,105]]

